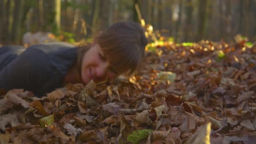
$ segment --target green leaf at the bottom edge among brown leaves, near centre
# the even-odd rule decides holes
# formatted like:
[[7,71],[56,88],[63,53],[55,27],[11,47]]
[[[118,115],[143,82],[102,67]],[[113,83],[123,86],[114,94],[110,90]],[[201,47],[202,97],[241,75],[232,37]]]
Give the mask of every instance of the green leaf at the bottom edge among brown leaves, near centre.
[[138,144],[142,139],[146,139],[153,130],[144,129],[144,130],[136,130],[133,131],[130,135],[128,135],[127,140],[132,142],[133,144]]

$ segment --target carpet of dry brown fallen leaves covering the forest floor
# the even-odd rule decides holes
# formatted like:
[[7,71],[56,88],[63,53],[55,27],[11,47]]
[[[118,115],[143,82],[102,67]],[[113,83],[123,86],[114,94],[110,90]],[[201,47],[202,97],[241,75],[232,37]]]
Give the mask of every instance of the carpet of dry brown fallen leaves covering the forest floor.
[[201,41],[147,51],[139,75],[0,98],[0,143],[251,144],[256,46]]

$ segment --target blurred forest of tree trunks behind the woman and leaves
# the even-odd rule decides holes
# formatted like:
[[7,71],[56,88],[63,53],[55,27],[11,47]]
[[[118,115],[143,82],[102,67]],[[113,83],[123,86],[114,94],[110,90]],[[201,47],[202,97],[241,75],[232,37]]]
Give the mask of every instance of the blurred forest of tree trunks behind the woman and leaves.
[[90,40],[120,20],[142,22],[153,40],[256,41],[256,0],[0,0],[0,44]]

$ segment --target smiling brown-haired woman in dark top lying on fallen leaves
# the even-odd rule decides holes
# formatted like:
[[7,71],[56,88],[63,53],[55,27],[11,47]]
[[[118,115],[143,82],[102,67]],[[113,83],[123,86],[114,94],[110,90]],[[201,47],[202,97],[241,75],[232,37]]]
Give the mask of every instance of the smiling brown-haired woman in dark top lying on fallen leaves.
[[0,48],[0,88],[24,88],[36,95],[65,83],[112,82],[133,74],[144,57],[147,39],[135,22],[117,22],[99,33],[91,45],[45,43],[29,48]]

